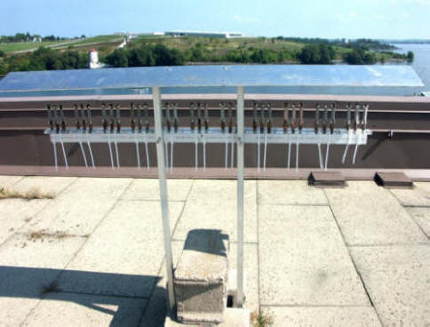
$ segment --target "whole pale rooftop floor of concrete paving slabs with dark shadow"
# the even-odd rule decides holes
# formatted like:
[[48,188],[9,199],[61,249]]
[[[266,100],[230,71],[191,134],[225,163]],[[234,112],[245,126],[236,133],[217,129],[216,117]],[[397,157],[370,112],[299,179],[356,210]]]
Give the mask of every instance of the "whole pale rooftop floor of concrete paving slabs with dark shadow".
[[[163,326],[157,179],[0,176],[0,326]],[[235,180],[168,180],[172,249],[230,235]],[[274,326],[430,326],[430,183],[246,180],[245,307]]]

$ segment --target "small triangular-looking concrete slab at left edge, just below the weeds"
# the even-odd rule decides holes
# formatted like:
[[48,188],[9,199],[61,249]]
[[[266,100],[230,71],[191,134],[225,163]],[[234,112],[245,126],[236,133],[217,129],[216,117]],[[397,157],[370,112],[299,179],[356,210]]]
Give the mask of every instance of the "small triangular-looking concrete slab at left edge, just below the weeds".
[[0,244],[33,219],[50,200],[0,200]]

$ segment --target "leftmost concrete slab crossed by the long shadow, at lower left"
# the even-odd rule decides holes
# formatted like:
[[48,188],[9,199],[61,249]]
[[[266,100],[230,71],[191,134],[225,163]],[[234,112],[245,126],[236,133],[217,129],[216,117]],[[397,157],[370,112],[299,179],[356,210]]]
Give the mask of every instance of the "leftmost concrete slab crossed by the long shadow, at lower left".
[[82,237],[17,234],[6,241],[0,247],[0,322],[20,325],[83,242]]

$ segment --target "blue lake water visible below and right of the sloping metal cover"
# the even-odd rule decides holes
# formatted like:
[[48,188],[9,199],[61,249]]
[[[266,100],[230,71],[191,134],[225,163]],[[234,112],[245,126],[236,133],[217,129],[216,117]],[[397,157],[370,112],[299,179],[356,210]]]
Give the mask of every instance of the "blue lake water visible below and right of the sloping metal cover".
[[[397,52],[414,52],[415,59],[411,66],[423,81],[424,87],[360,87],[360,86],[288,86],[288,87],[246,87],[249,93],[288,93],[288,94],[338,94],[338,95],[419,95],[430,91],[430,44],[394,44]],[[387,63],[386,65],[398,65]],[[402,63],[404,65],[404,63]],[[149,88],[122,90],[68,90],[56,92],[0,92],[0,97],[16,96],[60,96],[60,95],[105,95],[105,94],[149,94]],[[163,88],[163,93],[235,93],[235,88]]]

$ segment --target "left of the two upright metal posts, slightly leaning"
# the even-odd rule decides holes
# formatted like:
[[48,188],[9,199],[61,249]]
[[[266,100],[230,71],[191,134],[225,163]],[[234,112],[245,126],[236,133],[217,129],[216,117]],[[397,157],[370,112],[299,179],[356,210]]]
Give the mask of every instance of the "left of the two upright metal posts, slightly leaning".
[[152,89],[154,102],[156,159],[158,164],[158,181],[160,183],[160,198],[163,216],[164,253],[167,271],[167,295],[169,309],[175,307],[175,292],[173,289],[173,260],[171,256],[171,225],[169,223],[169,203],[167,202],[166,165],[164,157],[163,116],[161,109],[161,93],[158,86]]

